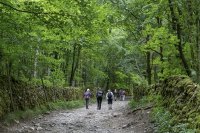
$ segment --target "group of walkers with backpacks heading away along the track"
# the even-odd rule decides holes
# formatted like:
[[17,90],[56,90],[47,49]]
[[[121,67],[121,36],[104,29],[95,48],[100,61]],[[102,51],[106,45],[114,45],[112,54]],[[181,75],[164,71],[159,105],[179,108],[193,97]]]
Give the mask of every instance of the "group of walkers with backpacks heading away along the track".
[[[106,99],[108,102],[108,109],[112,110],[112,104],[113,104],[113,100],[117,100],[117,97],[119,95],[119,99],[120,101],[124,101],[125,100],[125,91],[124,90],[119,90],[119,92],[117,91],[117,89],[114,90],[114,93],[109,89],[108,92],[106,93]],[[89,109],[89,99],[91,98],[92,93],[90,92],[90,89],[87,89],[84,92],[84,99],[86,102],[86,109]],[[97,99],[97,110],[101,110],[101,103],[103,100],[103,96],[104,96],[104,92],[103,90],[101,90],[100,88],[98,88],[97,92],[96,92],[96,99]]]

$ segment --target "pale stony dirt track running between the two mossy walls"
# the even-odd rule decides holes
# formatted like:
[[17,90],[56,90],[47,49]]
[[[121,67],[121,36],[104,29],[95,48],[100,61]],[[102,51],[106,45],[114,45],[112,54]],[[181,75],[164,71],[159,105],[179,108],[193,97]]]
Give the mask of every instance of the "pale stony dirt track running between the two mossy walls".
[[96,104],[89,109],[54,111],[38,118],[19,123],[3,131],[5,133],[152,133],[149,122],[150,110],[134,113],[128,108],[128,101],[116,101],[113,110],[107,103],[97,110]]

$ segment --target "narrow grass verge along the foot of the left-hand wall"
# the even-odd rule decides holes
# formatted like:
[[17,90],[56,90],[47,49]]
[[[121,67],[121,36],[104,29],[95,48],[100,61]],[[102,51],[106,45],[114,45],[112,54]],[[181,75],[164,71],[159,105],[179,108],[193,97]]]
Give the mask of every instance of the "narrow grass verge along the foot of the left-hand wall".
[[15,112],[9,113],[4,117],[3,121],[5,125],[10,125],[20,120],[34,118],[48,111],[74,109],[74,108],[82,107],[83,105],[84,105],[83,100],[49,102],[46,105],[41,105],[41,106],[35,107],[34,109],[26,109],[25,111],[15,111]]

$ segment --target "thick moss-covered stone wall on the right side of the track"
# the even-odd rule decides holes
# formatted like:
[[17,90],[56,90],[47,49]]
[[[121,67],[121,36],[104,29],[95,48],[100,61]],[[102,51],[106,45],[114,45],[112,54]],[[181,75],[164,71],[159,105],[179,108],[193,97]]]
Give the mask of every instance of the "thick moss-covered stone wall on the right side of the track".
[[[187,76],[176,75],[160,83],[158,94],[162,105],[172,114],[172,123],[186,123],[191,129],[200,128],[200,87]],[[155,87],[155,86],[154,86]]]

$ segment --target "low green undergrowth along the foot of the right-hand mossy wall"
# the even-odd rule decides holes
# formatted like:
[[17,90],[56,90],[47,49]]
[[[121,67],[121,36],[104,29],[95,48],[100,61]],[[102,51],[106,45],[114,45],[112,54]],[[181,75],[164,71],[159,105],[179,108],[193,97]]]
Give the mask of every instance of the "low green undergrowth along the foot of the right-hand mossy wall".
[[187,123],[176,123],[172,114],[162,106],[160,95],[144,96],[140,100],[131,100],[129,106],[132,109],[142,108],[153,104],[150,118],[154,123],[154,133],[196,133],[195,129],[189,129]]

